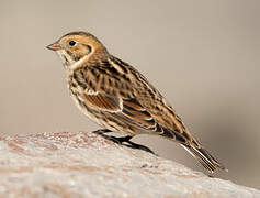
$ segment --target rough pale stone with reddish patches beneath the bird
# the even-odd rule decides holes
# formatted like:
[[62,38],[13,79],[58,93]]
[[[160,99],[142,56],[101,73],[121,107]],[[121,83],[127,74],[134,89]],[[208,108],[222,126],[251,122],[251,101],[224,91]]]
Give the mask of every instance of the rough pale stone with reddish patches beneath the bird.
[[87,132],[0,139],[0,197],[260,197]]

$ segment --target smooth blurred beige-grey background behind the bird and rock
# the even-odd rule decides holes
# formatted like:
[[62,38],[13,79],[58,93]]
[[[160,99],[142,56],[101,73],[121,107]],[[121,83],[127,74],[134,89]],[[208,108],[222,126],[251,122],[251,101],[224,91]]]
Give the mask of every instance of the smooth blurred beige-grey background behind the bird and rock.
[[[260,188],[260,1],[1,1],[0,134],[98,129],[68,97],[63,34],[95,34],[166,96],[228,167],[217,176]],[[202,170],[174,143],[136,142]]]

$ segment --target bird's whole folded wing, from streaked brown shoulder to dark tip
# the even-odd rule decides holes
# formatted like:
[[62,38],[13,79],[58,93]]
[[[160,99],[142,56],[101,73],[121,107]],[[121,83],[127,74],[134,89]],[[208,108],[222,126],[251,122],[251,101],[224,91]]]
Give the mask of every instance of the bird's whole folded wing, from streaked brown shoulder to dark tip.
[[112,66],[111,63],[108,63],[105,69],[104,66],[97,66],[75,72],[75,79],[79,85],[86,87],[81,98],[93,108],[114,113],[116,118],[127,120],[139,129],[185,144],[188,135],[177,130],[170,130],[160,119],[157,119],[158,116],[151,109],[144,106],[144,100],[151,98],[147,94],[143,97],[143,101],[139,99],[142,92],[136,89],[138,87],[137,81],[139,81],[137,76],[132,75],[132,79],[128,79],[125,73],[129,73],[129,70],[126,72],[126,68],[122,68],[122,64]]

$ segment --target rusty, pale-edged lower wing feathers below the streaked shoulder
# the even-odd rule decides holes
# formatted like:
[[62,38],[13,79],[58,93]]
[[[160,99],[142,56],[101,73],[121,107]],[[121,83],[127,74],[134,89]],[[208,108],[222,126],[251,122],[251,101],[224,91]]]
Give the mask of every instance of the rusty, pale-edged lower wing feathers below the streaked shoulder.
[[94,109],[114,113],[116,118],[127,120],[131,124],[136,125],[145,131],[155,132],[162,136],[177,140],[186,144],[188,140],[180,132],[171,131],[159,124],[154,117],[144,108],[135,98],[120,98],[116,96],[109,96],[106,94],[95,92],[83,94],[83,99],[88,105]]

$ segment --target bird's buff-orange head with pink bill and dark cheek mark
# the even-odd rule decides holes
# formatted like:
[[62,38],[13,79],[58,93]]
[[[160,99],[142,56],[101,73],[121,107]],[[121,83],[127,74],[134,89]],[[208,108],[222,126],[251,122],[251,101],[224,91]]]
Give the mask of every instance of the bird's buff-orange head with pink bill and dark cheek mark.
[[[47,46],[48,50],[56,51],[60,56],[66,68],[72,66],[76,62],[95,56],[104,56],[106,53],[103,44],[92,34],[87,32],[71,32],[57,42]],[[94,58],[95,57],[95,58]]]

